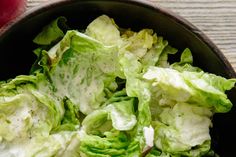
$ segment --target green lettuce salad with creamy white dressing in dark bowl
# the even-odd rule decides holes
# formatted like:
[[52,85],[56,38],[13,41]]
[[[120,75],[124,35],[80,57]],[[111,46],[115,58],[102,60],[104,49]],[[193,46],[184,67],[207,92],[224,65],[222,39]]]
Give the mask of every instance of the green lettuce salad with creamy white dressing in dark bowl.
[[83,31],[58,17],[33,42],[30,74],[0,82],[0,157],[216,156],[211,119],[236,79],[194,66],[190,49],[106,15]]

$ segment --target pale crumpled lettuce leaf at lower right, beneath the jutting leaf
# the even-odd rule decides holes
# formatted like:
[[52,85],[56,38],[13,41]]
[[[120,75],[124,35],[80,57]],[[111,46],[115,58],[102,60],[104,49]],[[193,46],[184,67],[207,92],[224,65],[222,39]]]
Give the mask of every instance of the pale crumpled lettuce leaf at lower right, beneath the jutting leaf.
[[212,112],[192,104],[178,103],[174,107],[163,107],[159,121],[154,121],[155,145],[164,152],[181,154],[195,149],[195,155],[201,151],[196,147],[208,143],[210,149],[209,127]]

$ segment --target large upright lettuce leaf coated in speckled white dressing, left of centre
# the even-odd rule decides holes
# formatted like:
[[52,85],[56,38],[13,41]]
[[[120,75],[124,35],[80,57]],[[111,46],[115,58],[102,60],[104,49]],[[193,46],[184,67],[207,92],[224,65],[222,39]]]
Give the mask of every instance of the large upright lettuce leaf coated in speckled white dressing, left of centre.
[[[58,97],[67,97],[79,110],[88,114],[107,100],[106,90],[117,87],[121,75],[117,47],[104,46],[77,31],[65,37],[47,52],[49,78]],[[48,62],[46,62],[48,63]]]

